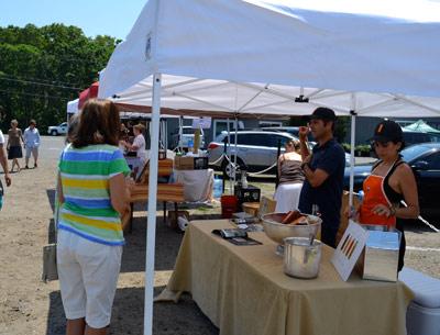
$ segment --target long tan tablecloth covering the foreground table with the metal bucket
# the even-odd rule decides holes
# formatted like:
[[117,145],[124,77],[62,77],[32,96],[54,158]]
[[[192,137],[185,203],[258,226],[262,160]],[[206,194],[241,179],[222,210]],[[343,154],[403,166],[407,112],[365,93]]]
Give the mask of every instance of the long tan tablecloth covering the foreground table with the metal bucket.
[[164,292],[190,292],[221,335],[406,334],[413,294],[404,283],[356,275],[344,282],[327,246],[317,279],[290,278],[264,233],[251,234],[263,245],[235,246],[211,234],[222,227],[229,223],[191,222]]

